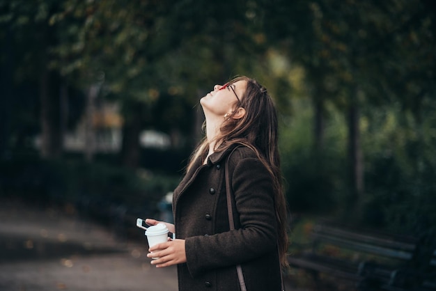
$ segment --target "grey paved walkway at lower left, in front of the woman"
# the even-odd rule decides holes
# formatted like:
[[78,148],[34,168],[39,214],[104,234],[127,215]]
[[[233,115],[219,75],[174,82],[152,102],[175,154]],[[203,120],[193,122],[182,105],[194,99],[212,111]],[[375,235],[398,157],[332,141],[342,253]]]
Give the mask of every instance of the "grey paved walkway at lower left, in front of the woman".
[[178,288],[175,267],[150,265],[145,240],[117,241],[101,226],[79,219],[72,209],[0,200],[0,290]]

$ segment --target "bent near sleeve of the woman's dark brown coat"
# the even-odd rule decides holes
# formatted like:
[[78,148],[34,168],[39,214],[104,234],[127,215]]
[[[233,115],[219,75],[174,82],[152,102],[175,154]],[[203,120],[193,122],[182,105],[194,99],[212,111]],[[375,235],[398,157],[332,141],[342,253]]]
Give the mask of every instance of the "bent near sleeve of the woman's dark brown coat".
[[238,265],[277,249],[270,173],[258,159],[244,158],[235,165],[231,181],[241,228],[188,237],[187,267],[192,277],[208,269]]

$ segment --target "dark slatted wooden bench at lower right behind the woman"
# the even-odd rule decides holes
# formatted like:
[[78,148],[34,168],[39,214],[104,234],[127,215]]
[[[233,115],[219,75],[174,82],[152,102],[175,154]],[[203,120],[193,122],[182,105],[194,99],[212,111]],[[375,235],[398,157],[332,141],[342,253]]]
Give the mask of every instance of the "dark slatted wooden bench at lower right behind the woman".
[[[311,231],[311,245],[290,254],[291,267],[309,271],[316,282],[325,274],[355,283],[357,290],[396,287],[416,260],[419,239],[357,230],[320,221]],[[391,289],[394,291],[394,289]]]

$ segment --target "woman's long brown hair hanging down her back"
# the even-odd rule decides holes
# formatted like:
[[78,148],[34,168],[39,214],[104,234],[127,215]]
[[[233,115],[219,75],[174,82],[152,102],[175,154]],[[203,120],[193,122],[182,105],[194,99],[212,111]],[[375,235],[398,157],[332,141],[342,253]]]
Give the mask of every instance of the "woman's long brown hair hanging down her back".
[[[247,88],[242,98],[240,98],[240,104],[238,104],[239,107],[245,109],[245,115],[240,119],[231,118],[232,116],[226,118],[220,128],[219,135],[215,139],[215,152],[226,150],[233,144],[240,143],[254,150],[260,161],[270,172],[274,186],[280,261],[283,266],[287,266],[287,212],[280,170],[277,112],[267,89],[256,80],[242,76],[232,79],[229,83],[233,84],[237,81],[247,83]],[[190,159],[187,167],[188,171],[198,157],[206,157],[208,149],[209,141],[203,139]]]

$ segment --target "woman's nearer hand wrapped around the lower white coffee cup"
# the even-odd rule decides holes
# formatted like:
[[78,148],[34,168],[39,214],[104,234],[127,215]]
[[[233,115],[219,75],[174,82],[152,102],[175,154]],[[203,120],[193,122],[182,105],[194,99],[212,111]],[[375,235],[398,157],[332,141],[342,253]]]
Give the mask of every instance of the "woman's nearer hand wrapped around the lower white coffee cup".
[[148,258],[157,258],[151,261],[151,265],[157,268],[169,267],[186,262],[185,239],[172,239],[162,242],[148,249]]

